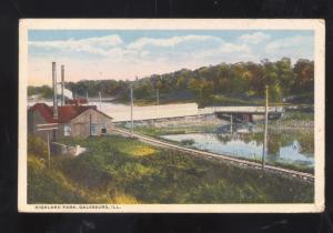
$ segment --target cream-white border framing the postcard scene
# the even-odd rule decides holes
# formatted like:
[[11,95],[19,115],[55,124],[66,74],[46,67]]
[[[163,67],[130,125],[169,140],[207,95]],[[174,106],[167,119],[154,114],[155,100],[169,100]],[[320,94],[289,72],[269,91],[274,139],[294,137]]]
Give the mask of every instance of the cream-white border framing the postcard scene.
[[[28,30],[314,30],[314,203],[309,204],[28,204],[27,80]],[[87,213],[300,213],[324,211],[325,22],[321,19],[22,19],[19,27],[19,212]]]

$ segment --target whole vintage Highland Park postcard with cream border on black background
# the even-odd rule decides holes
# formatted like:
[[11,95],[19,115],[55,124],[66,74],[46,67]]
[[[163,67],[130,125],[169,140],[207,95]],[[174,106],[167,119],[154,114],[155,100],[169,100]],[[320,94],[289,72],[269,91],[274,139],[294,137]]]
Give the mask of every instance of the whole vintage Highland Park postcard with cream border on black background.
[[323,20],[22,19],[20,212],[322,212]]

